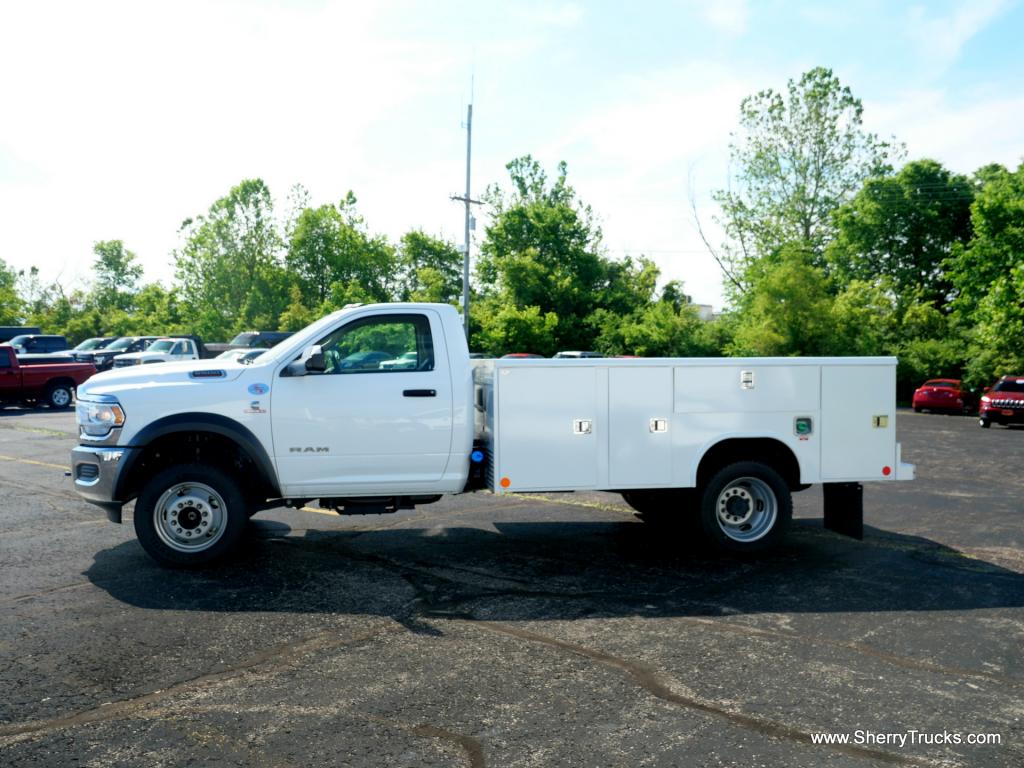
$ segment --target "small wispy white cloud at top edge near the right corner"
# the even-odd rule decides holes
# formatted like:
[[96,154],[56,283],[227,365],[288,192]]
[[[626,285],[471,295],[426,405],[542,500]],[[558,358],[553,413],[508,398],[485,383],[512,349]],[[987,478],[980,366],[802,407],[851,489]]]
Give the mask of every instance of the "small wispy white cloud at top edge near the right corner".
[[935,15],[915,5],[907,11],[907,31],[918,54],[933,67],[944,69],[1009,5],[1008,0],[961,0],[951,12]]

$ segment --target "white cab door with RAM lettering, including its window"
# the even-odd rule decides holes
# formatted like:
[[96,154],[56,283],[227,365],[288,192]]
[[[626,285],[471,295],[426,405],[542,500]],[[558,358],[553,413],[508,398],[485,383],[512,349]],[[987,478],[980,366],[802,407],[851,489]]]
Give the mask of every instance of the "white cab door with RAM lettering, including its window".
[[325,373],[278,376],[272,385],[273,447],[287,493],[429,490],[452,450],[440,316],[375,312],[317,343]]

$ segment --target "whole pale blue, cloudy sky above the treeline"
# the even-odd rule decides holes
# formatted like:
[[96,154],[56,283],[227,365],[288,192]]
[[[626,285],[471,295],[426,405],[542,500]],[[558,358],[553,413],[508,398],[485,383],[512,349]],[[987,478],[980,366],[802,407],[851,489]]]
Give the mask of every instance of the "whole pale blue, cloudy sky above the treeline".
[[1016,166],[1022,38],[1009,0],[3,4],[0,258],[74,287],[122,239],[169,281],[180,222],[251,176],[461,240],[472,78],[474,194],[565,160],[612,255],[720,306],[690,199],[719,237],[744,95],[830,67],[909,158]]

